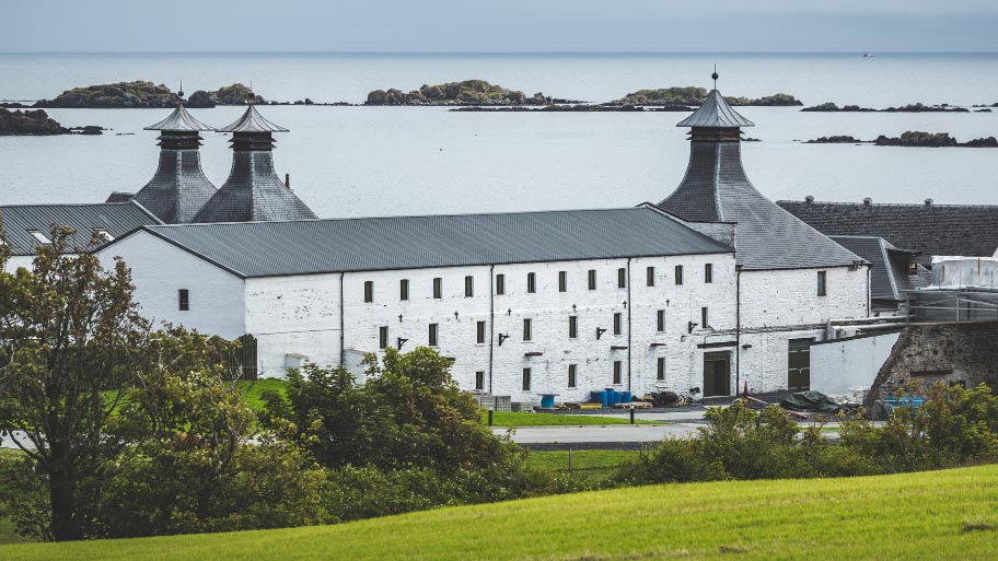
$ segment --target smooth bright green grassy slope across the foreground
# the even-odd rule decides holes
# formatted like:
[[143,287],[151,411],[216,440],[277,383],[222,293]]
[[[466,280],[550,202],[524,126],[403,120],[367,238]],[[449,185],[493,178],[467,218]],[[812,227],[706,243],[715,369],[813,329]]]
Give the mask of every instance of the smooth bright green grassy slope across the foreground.
[[324,526],[4,546],[16,560],[998,558],[998,466],[659,486]]

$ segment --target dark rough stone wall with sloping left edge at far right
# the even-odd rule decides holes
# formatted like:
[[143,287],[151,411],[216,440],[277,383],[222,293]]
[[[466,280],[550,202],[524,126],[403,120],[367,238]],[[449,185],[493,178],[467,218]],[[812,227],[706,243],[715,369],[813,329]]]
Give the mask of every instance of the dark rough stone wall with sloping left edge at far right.
[[998,322],[913,325],[902,331],[867,396],[867,406],[903,387],[984,382],[998,388]]

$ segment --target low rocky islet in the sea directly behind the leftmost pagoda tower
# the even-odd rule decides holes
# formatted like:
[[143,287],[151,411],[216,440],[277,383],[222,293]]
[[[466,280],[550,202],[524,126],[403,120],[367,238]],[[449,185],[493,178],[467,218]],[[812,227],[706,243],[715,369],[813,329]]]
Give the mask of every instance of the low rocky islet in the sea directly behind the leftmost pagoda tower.
[[152,82],[118,82],[114,84],[73,87],[55,100],[42,100],[35,107],[60,108],[144,108],[172,107],[179,97],[163,84]]

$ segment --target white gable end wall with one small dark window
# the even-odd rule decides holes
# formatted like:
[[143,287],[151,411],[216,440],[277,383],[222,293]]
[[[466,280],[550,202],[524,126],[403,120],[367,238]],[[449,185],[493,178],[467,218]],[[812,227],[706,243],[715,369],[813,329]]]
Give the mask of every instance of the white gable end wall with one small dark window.
[[[167,322],[234,339],[246,332],[243,280],[162,239],[136,232],[98,254],[104,268],[120,256],[131,269],[135,300],[155,324]],[[190,309],[179,309],[187,289]]]

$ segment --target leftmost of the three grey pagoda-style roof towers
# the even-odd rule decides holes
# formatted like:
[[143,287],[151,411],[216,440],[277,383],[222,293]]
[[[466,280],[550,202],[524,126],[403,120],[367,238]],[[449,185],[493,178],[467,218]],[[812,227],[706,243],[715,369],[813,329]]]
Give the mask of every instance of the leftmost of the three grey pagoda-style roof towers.
[[205,177],[198,151],[200,131],[214,129],[177,104],[169,117],[146,130],[160,131],[160,165],[134,198],[167,224],[190,222],[218,190]]

